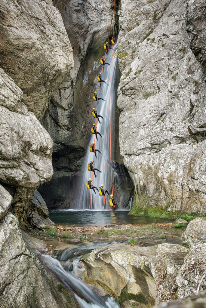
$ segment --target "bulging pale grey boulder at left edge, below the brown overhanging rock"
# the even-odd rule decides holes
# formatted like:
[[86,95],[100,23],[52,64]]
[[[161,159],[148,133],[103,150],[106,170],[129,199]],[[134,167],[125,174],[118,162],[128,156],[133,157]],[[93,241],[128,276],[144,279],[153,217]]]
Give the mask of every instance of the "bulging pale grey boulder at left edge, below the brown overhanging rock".
[[23,93],[0,69],[0,180],[6,184],[35,188],[51,179],[53,142]]

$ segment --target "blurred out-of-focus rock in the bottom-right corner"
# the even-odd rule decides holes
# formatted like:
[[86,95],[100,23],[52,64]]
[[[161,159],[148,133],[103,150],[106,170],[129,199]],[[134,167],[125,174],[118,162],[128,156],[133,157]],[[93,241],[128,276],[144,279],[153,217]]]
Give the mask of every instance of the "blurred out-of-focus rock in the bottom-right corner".
[[177,299],[169,303],[156,306],[156,308],[206,308],[206,291],[202,291],[187,298]]

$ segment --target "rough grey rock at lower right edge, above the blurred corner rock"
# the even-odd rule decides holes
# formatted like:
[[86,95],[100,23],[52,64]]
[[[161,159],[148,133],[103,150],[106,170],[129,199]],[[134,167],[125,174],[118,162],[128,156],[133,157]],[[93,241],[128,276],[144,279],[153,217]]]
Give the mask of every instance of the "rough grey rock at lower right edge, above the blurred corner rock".
[[192,245],[176,278],[178,298],[184,298],[206,289],[206,241]]

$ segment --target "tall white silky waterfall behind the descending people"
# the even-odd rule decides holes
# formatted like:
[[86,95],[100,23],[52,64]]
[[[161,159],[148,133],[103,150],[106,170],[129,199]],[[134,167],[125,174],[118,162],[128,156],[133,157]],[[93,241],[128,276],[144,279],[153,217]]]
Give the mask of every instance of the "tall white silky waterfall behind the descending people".
[[[116,50],[116,45],[113,47],[113,55]],[[99,87],[98,97],[105,99],[99,101],[98,104],[98,114],[102,115],[104,119],[99,118],[101,124],[97,120],[97,132],[99,132],[103,138],[97,135],[98,140],[95,139],[95,149],[98,149],[103,154],[101,155],[97,152],[97,158],[94,156],[94,168],[98,168],[102,173],[96,171],[96,178],[93,174],[93,186],[96,186],[99,189],[99,186],[103,184],[103,177],[104,177],[104,189],[107,189],[109,193],[111,193],[111,166],[110,166],[110,119],[111,119],[111,159],[113,157],[113,143],[114,143],[114,129],[115,129],[115,93],[116,93],[116,64],[117,64],[117,57],[112,57],[112,50],[109,49],[108,55],[105,56],[105,62],[110,63],[109,65],[104,66],[104,72],[102,74],[102,80],[106,81],[108,86],[105,83],[102,83],[102,90]],[[102,69],[102,66],[101,66]],[[97,91],[99,83],[95,83],[94,91]],[[91,111],[92,108],[97,108],[96,101],[91,103]],[[96,118],[94,121],[91,122],[92,124],[96,124]],[[91,133],[91,132],[90,132]],[[98,191],[96,194],[91,189],[87,189],[86,182],[89,178],[92,177],[92,172],[88,171],[87,165],[88,163],[93,160],[93,154],[89,151],[89,145],[94,142],[94,136],[91,133],[90,143],[88,144],[87,154],[82,166],[81,178],[79,181],[79,187],[77,189],[78,196],[75,198],[77,200],[76,205],[74,208],[76,209],[89,209],[90,205],[90,197],[91,197],[91,206],[90,209],[103,209],[104,205],[104,197],[100,197]],[[105,151],[106,149],[106,151]],[[105,165],[105,172],[104,172],[104,165]],[[109,200],[108,195],[105,195],[105,208],[109,209]]]

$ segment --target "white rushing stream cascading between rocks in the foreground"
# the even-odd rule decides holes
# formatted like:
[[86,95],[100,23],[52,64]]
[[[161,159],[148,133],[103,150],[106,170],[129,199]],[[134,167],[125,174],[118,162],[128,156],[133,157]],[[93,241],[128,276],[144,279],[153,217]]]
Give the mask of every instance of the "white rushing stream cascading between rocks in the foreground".
[[78,279],[78,261],[92,249],[116,242],[87,243],[84,245],[69,245],[64,250],[55,251],[55,258],[41,254],[42,264],[46,265],[71,290],[82,308],[118,308],[119,305],[111,297],[101,297],[93,292],[83,281]]

